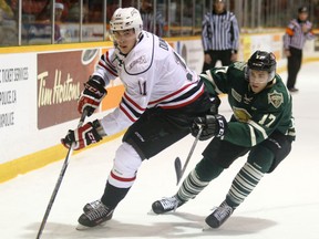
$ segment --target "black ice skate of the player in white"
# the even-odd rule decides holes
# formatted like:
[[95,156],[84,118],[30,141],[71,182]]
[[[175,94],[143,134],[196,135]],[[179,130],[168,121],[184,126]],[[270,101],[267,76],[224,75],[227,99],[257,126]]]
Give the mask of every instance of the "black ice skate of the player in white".
[[78,219],[78,230],[95,227],[112,218],[114,209],[111,209],[103,205],[101,200],[86,204],[83,207],[84,214]]

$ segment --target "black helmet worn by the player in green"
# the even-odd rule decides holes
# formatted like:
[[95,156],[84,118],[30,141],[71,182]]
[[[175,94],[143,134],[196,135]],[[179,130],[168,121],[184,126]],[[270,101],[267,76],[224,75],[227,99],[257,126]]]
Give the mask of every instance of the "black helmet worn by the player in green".
[[276,58],[272,52],[256,51],[248,60],[248,70],[267,71],[269,73],[268,82],[276,74]]

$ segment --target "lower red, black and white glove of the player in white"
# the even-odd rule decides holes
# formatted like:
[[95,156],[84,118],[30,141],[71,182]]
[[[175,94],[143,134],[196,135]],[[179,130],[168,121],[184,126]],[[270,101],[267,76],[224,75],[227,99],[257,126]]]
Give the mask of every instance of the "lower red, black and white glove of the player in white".
[[93,123],[89,122],[74,131],[70,129],[66,136],[61,139],[61,143],[66,148],[70,148],[73,145],[74,150],[79,150],[90,144],[97,143],[102,139],[102,136],[96,131],[97,125],[100,125],[100,123],[97,119],[95,119]]

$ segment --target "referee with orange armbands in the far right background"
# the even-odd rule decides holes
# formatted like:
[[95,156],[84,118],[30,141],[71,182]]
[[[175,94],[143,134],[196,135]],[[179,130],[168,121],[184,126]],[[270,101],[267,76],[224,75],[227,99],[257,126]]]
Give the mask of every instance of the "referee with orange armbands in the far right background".
[[295,85],[297,74],[301,67],[302,48],[306,40],[312,39],[315,39],[315,34],[312,32],[312,23],[308,21],[308,9],[307,7],[300,7],[298,9],[298,18],[289,22],[284,35],[284,49],[288,62],[287,87],[290,92],[298,92]]

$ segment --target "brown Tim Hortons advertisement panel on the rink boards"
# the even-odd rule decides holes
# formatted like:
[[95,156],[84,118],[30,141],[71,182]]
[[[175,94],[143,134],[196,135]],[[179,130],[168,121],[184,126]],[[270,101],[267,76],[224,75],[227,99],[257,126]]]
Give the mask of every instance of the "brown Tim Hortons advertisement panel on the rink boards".
[[79,117],[78,98],[99,59],[99,49],[38,54],[39,129]]

